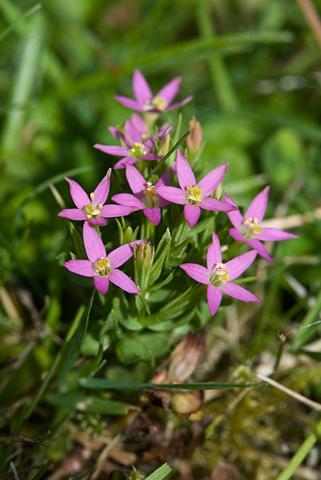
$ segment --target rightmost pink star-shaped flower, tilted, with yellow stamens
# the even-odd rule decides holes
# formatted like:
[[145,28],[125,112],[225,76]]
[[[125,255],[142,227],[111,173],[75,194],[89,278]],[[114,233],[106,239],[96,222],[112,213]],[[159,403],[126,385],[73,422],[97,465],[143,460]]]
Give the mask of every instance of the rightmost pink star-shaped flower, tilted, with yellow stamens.
[[261,257],[268,260],[268,262],[273,263],[272,258],[268,254],[265,246],[261,241],[265,240],[286,240],[286,239],[297,239],[298,235],[293,233],[284,232],[284,230],[279,230],[279,228],[264,228],[261,227],[260,223],[263,220],[263,216],[266,213],[266,205],[268,203],[268,192],[270,187],[263,189],[252,201],[250,207],[248,207],[245,212],[244,217],[241,215],[241,212],[236,207],[232,198],[229,198],[226,194],[224,195],[224,200],[231,203],[236,207],[234,212],[229,212],[229,220],[234,225],[234,228],[229,229],[229,234],[234,240],[247,242],[250,247],[254,248],[259,252]]

